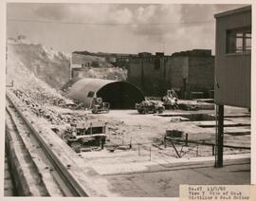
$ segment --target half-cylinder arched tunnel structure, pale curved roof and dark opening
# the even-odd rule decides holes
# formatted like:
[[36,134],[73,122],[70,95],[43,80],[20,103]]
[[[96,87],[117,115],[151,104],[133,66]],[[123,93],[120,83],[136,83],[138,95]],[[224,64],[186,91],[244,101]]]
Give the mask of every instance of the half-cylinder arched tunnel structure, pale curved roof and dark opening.
[[143,93],[130,82],[83,78],[73,83],[67,97],[83,102],[91,108],[94,96],[110,103],[111,109],[132,109],[135,103],[145,100]]

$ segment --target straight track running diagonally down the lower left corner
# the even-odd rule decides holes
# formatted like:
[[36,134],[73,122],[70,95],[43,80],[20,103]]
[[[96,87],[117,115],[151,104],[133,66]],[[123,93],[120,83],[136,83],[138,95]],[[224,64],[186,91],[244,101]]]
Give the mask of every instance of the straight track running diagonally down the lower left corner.
[[[29,168],[29,174],[27,174],[30,176],[28,182],[31,183],[27,184],[27,186],[30,185],[30,192],[27,195],[89,196],[80,181],[70,172],[69,167],[63,164],[59,156],[52,151],[51,146],[46,143],[44,137],[36,130],[34,123],[27,119],[23,109],[12,99],[14,95],[10,93],[7,92],[6,111],[7,120],[12,128],[7,128],[7,132],[15,132],[16,140],[20,141],[20,145],[23,145],[24,148],[27,148],[23,155],[24,162],[30,162],[27,165]],[[33,174],[31,174],[31,170],[33,170]],[[38,180],[39,178],[41,181]],[[42,186],[36,191],[35,186],[39,185]]]

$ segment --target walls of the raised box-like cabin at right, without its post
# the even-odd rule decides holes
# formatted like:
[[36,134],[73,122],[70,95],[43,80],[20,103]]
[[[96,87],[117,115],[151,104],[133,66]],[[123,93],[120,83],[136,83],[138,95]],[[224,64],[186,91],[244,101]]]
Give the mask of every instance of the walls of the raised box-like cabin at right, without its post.
[[219,13],[215,18],[215,102],[250,108],[251,53],[230,52],[229,33],[251,29],[251,7]]

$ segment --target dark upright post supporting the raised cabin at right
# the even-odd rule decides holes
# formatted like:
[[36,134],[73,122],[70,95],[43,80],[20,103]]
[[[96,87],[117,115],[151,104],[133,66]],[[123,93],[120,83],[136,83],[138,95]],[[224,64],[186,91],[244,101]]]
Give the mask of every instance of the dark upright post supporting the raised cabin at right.
[[217,132],[217,160],[215,167],[223,167],[223,130],[224,130],[224,105],[218,105],[218,132]]

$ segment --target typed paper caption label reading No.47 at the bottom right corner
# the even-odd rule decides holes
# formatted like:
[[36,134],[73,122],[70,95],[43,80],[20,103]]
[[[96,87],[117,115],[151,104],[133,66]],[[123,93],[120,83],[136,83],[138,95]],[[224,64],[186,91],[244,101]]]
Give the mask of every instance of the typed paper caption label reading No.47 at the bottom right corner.
[[180,201],[251,201],[256,200],[256,186],[251,185],[180,185]]

